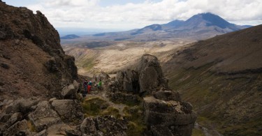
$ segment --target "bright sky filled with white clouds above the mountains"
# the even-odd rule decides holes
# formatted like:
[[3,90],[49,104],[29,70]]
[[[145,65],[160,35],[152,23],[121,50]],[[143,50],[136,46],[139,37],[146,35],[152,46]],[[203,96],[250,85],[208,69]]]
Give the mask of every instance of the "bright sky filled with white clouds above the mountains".
[[55,28],[139,29],[214,13],[239,25],[262,24],[261,0],[2,0],[40,10]]

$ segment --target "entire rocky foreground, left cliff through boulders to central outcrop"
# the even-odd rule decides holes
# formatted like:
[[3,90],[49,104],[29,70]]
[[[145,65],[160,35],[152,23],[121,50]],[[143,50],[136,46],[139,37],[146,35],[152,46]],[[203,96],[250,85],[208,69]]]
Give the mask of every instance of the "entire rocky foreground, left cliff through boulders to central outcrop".
[[2,1],[0,13],[0,135],[191,135],[196,113],[169,89],[156,56],[114,78],[89,77],[103,86],[85,98],[45,15]]

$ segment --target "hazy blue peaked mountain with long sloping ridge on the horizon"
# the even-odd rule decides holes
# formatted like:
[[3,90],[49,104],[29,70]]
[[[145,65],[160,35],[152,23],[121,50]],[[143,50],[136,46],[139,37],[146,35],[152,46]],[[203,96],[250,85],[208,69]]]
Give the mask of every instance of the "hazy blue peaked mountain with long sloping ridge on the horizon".
[[231,24],[218,15],[201,13],[190,17],[186,21],[174,20],[167,24],[152,24],[142,29],[115,33],[98,33],[93,36],[110,40],[163,40],[173,38],[203,40],[248,27],[251,26]]

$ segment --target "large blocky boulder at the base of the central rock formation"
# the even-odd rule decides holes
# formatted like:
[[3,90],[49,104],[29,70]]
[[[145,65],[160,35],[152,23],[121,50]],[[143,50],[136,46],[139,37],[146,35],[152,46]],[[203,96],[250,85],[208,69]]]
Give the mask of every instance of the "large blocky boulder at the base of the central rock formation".
[[184,112],[184,108],[187,108],[184,107],[184,103],[159,100],[153,96],[145,97],[143,100],[145,122],[152,135],[191,135],[196,113]]

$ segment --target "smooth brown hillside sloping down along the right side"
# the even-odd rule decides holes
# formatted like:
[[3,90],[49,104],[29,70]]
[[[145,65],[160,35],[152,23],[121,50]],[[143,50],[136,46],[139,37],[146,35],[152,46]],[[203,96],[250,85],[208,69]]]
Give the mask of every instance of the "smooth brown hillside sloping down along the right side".
[[163,66],[198,122],[224,135],[262,133],[262,25],[173,50]]

